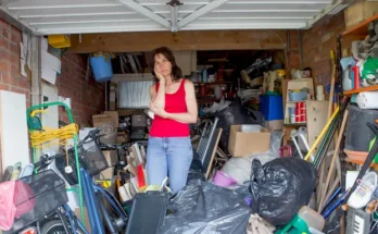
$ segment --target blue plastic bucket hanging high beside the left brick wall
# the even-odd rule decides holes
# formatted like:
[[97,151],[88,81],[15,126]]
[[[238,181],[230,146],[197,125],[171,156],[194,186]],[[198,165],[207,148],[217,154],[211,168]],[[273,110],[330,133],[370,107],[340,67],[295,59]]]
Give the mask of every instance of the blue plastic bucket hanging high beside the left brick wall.
[[113,67],[111,58],[104,56],[93,56],[90,58],[90,67],[92,69],[97,82],[108,82],[113,77]]

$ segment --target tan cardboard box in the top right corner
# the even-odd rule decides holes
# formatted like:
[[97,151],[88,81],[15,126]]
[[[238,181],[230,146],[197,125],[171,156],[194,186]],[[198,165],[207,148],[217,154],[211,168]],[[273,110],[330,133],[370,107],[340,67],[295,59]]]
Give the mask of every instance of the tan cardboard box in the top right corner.
[[378,13],[378,1],[357,0],[344,11],[345,27],[353,27]]

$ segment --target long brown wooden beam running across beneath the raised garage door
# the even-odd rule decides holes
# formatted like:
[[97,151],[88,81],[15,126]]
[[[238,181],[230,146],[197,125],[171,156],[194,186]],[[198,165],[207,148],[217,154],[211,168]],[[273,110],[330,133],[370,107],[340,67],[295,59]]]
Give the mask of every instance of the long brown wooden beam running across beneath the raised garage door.
[[[277,34],[276,34],[277,33]],[[182,30],[72,35],[74,53],[144,52],[167,46],[173,50],[284,49],[286,30]],[[280,38],[281,39],[280,39]]]

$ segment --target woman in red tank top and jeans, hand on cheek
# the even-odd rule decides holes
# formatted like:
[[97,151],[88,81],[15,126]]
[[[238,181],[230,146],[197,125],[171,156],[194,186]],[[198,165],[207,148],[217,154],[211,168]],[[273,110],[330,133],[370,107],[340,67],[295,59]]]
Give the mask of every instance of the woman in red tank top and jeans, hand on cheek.
[[198,116],[194,86],[181,77],[166,47],[153,51],[150,69],[156,83],[150,87],[150,109],[155,116],[147,149],[148,183],[161,185],[168,176],[176,193],[186,185],[193,158],[189,124]]

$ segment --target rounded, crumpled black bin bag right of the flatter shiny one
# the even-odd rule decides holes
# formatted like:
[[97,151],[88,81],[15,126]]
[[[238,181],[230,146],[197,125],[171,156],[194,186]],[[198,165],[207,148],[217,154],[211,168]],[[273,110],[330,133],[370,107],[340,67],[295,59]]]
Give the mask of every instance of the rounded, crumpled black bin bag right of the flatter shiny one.
[[275,226],[289,223],[310,202],[316,186],[316,169],[298,158],[277,158],[264,165],[252,162],[252,212]]

